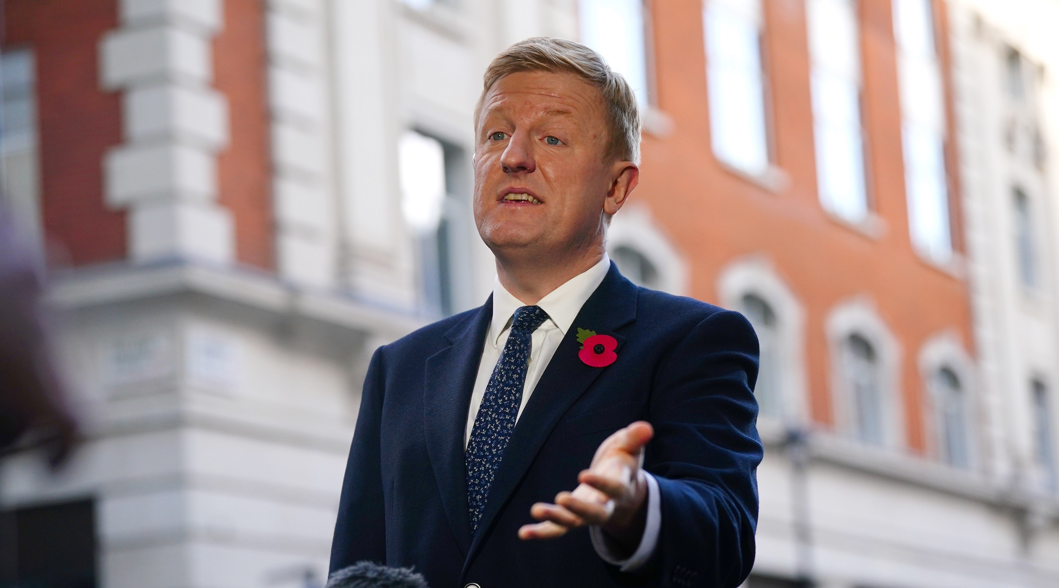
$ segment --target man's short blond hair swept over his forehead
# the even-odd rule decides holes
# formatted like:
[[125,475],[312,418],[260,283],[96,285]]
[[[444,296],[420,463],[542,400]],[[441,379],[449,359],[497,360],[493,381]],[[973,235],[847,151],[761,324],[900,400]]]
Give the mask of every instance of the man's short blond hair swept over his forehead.
[[483,76],[482,95],[474,107],[474,125],[485,95],[502,77],[518,72],[572,73],[599,90],[606,105],[609,144],[607,157],[640,163],[640,108],[632,88],[610,69],[603,56],[567,39],[530,37],[497,55]]

